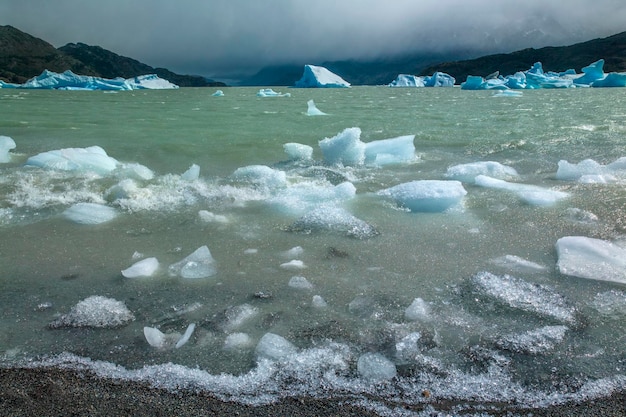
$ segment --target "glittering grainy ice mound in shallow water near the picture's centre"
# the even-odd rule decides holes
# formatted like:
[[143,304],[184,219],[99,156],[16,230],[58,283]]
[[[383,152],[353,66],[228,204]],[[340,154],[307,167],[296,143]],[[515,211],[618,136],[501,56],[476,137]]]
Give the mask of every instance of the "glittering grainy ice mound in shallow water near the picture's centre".
[[321,206],[296,220],[288,229],[292,232],[335,232],[357,239],[378,235],[378,231],[347,210],[334,206]]

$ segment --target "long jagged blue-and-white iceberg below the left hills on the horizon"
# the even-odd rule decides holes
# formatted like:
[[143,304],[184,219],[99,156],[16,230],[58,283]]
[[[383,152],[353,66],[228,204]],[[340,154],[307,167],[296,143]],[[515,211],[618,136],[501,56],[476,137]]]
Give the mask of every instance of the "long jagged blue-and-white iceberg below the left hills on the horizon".
[[68,70],[61,74],[44,70],[40,75],[31,78],[24,84],[2,84],[3,88],[28,88],[47,90],[142,90],[142,89],[174,89],[177,85],[159,78],[154,74],[140,75],[132,78],[101,78],[90,75],[78,75]]

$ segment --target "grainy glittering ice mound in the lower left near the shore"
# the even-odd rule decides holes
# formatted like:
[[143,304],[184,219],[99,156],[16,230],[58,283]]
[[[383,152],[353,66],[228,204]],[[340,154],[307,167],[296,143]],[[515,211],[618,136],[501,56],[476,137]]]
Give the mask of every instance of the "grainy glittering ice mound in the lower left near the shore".
[[80,301],[69,313],[50,323],[50,327],[115,328],[133,320],[135,316],[122,301],[94,295]]

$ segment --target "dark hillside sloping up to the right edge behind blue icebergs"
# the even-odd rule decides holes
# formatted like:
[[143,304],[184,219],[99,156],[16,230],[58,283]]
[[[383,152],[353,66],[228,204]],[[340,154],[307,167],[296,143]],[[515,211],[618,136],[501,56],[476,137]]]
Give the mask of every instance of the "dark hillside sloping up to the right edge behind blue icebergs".
[[415,75],[431,75],[442,71],[456,78],[457,83],[467,79],[468,75],[487,76],[496,71],[502,75],[512,75],[541,62],[546,71],[566,71],[581,68],[604,59],[605,72],[626,71],[626,32],[607,38],[594,39],[570,46],[527,48],[510,54],[487,55],[466,61],[444,62],[430,65]]

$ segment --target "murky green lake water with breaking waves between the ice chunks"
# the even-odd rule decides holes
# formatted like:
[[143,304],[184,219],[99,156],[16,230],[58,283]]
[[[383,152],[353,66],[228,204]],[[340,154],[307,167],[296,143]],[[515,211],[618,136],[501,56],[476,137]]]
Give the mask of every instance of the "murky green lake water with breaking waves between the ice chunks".
[[[606,166],[626,156],[623,89],[521,97],[458,88],[275,90],[290,97],[261,98],[254,88],[227,88],[224,97],[194,88],[0,90],[0,136],[17,145],[0,164],[2,361],[90,358],[103,374],[252,402],[339,390],[420,401],[416,393],[428,388],[439,398],[547,404],[624,389],[626,286],[561,274],[555,250],[565,236],[625,240],[626,171],[605,183],[556,175],[562,160]],[[308,116],[308,100],[326,115]],[[352,127],[365,143],[415,135],[414,160],[325,164],[318,143]],[[313,159],[290,161],[286,143],[311,146]],[[95,145],[153,178],[25,165],[42,152]],[[486,161],[514,168],[510,182],[566,197],[537,205],[464,182],[460,204],[414,213],[377,194]],[[199,177],[186,179],[193,164]],[[250,166],[284,181],[233,175]],[[129,180],[134,188],[116,198],[111,190]],[[339,184],[354,193],[341,194]],[[63,215],[85,202],[117,217],[85,225]],[[377,234],[354,238],[332,224],[293,230],[320,206],[345,209]],[[204,245],[215,275],[169,273]],[[159,261],[152,276],[121,274],[147,257]],[[293,260],[303,266],[284,265]],[[484,290],[477,277],[485,272],[513,277],[513,287],[498,287],[509,282],[503,278]],[[294,276],[310,288],[289,285]],[[559,306],[537,305],[554,294],[571,320],[559,319]],[[90,296],[123,302],[134,320],[113,329],[49,326]],[[415,299],[425,310],[407,317]],[[144,337],[154,327],[177,339],[191,323],[180,348],[155,348]],[[268,333],[293,352],[260,359]],[[368,379],[359,367],[366,353],[387,361],[383,374],[391,363],[396,376]]]

